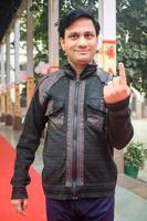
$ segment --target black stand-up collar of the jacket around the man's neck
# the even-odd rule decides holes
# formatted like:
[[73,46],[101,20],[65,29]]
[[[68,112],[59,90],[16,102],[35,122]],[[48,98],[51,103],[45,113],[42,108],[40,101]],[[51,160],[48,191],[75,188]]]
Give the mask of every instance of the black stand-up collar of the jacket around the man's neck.
[[[70,77],[75,80],[76,78],[76,72],[75,70],[71,66],[70,63],[65,64],[63,66],[64,73]],[[93,64],[87,64],[87,66],[85,66],[85,69],[83,70],[83,72],[80,75],[80,80],[83,80],[85,77],[88,77],[90,75],[94,74],[97,70],[97,65],[95,63]]]

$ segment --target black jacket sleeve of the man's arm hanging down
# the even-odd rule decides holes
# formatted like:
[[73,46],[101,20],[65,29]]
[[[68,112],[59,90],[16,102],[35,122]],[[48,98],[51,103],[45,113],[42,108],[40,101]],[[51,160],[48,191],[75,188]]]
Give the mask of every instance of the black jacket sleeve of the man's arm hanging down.
[[46,118],[44,112],[45,105],[41,104],[39,90],[36,90],[28,109],[23,129],[17,145],[14,173],[11,179],[11,199],[28,198],[25,186],[31,181],[29,168],[34,160],[42,130],[45,127]]

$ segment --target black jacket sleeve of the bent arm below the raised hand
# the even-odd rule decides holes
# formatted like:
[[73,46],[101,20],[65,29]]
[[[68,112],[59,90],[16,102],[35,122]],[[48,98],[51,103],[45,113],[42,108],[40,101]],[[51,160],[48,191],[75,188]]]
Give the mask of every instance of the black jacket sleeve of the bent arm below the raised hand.
[[107,136],[111,146],[123,149],[132,139],[134,128],[130,120],[129,97],[116,104],[106,104]]

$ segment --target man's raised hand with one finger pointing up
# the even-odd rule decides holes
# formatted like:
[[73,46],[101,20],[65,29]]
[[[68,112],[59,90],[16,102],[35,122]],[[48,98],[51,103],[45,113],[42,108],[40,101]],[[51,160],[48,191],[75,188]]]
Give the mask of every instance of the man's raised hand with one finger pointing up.
[[118,67],[119,76],[114,77],[106,86],[104,86],[104,101],[106,104],[115,104],[130,95],[130,88],[127,85],[124,64],[119,63]]

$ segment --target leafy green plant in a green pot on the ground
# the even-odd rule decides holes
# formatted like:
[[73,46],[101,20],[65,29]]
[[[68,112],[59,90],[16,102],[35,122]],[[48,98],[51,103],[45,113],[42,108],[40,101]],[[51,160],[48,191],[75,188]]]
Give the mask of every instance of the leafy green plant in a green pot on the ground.
[[138,171],[144,168],[147,159],[147,149],[140,141],[130,141],[124,150],[124,172],[137,178]]

